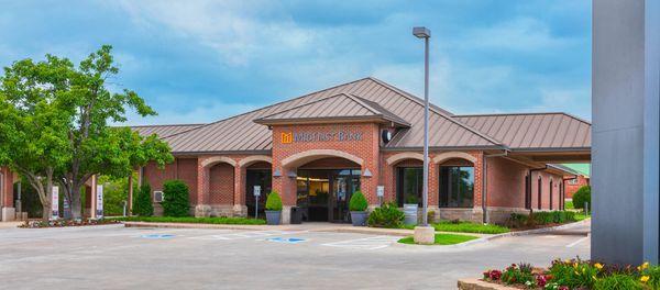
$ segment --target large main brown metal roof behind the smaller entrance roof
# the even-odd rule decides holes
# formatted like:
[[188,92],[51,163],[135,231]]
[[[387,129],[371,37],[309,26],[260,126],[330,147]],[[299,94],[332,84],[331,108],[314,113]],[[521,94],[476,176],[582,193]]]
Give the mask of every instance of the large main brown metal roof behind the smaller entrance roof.
[[[397,133],[388,148],[419,148],[424,141],[424,102],[375,78],[363,78],[268,105],[244,114],[210,123],[165,138],[174,153],[263,152],[272,148],[272,132],[253,121],[344,93],[376,103],[411,124]],[[311,110],[310,107],[309,110]],[[373,108],[373,105],[372,105]],[[341,109],[341,108],[340,108]],[[501,147],[501,143],[432,105],[430,110],[431,147]]]

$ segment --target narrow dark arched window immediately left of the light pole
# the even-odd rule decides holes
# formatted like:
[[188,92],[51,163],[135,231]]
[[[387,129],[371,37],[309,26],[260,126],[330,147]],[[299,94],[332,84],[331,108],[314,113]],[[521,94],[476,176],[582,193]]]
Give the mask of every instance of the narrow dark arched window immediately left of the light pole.
[[396,201],[399,207],[404,203],[421,205],[424,170],[421,167],[398,167],[396,180]]

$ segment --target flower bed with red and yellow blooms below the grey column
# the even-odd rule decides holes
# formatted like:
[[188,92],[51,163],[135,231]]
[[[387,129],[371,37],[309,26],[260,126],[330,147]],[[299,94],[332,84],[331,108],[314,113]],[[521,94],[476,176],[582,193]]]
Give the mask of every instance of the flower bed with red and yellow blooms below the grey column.
[[520,263],[504,270],[486,270],[483,280],[520,289],[660,289],[660,267],[557,259],[547,269]]

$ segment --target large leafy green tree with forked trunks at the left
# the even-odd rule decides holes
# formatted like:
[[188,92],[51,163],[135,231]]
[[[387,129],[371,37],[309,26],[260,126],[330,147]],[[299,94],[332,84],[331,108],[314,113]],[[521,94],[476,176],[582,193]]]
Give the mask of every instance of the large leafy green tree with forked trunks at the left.
[[127,177],[148,161],[174,160],[156,135],[110,125],[125,122],[127,109],[156,114],[134,91],[108,88],[119,74],[111,49],[105,45],[78,66],[53,55],[24,59],[0,77],[0,164],[30,180],[44,209],[52,185],[61,185],[74,219],[81,216],[80,189],[94,175]]

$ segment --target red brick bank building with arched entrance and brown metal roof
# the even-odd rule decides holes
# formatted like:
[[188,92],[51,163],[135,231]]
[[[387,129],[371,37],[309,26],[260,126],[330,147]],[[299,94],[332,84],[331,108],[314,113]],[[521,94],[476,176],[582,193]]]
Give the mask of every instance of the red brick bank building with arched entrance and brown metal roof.
[[[573,174],[553,164],[591,158],[591,124],[564,113],[454,115],[431,105],[429,118],[436,217],[498,223],[512,212],[563,209]],[[141,168],[138,182],[161,191],[165,180],[184,180],[196,216],[254,214],[255,186],[279,192],[284,223],[293,207],[304,221],[348,222],[359,189],[370,208],[421,204],[424,101],[378,79],[209,124],[134,130],[158,134],[176,157],[164,169]]]

